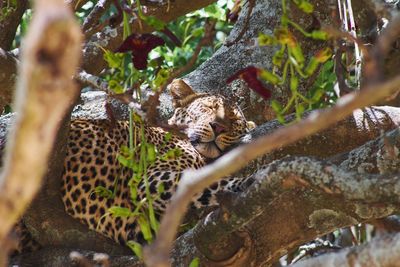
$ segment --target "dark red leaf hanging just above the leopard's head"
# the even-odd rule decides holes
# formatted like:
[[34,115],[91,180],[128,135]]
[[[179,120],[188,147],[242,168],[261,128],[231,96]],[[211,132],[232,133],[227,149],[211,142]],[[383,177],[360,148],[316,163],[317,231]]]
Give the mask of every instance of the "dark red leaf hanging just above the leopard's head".
[[226,82],[229,84],[236,79],[242,79],[253,91],[267,100],[271,98],[271,90],[265,87],[263,82],[258,79],[259,73],[260,69],[249,66],[233,74]]

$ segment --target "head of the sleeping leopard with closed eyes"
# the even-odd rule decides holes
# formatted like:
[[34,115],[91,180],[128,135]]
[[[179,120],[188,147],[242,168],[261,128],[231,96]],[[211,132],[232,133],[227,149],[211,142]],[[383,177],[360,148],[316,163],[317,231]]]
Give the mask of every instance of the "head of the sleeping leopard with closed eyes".
[[220,95],[199,94],[183,80],[174,80],[170,93],[175,107],[168,124],[184,129],[194,148],[217,158],[255,127],[234,103]]

